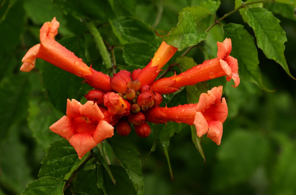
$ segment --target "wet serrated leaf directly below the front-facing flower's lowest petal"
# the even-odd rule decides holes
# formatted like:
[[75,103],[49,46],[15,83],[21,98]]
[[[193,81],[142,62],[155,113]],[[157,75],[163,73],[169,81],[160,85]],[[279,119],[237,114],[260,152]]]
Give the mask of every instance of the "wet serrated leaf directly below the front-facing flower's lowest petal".
[[38,177],[52,176],[67,180],[85,158],[87,155],[79,159],[75,149],[66,139],[61,138],[53,142],[47,150],[47,155],[41,161]]

